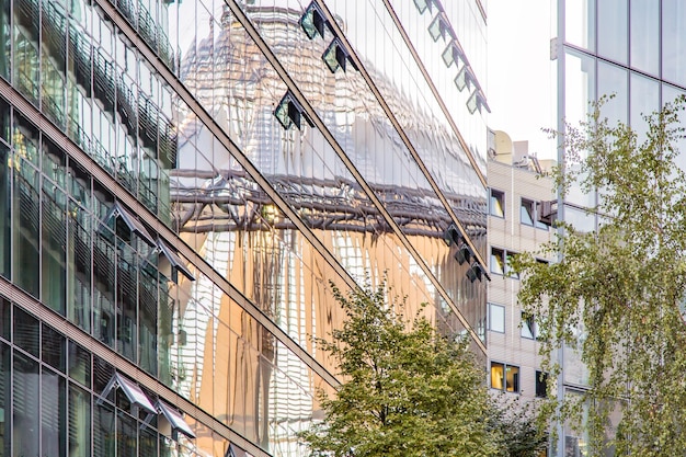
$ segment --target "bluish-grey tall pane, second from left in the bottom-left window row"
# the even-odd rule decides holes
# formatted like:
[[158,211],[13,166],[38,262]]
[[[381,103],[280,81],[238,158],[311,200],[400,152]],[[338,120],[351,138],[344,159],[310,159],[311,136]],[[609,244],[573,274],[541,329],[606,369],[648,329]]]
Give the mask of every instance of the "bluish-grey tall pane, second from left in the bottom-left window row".
[[14,351],[14,382],[12,385],[13,457],[39,456],[41,439],[41,374],[38,363]]

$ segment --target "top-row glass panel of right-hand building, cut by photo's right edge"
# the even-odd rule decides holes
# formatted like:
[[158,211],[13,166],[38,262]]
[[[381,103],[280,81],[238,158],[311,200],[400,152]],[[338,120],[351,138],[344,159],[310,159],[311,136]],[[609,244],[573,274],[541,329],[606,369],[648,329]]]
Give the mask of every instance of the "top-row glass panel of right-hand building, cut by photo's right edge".
[[662,2],[662,78],[686,85],[686,3]]

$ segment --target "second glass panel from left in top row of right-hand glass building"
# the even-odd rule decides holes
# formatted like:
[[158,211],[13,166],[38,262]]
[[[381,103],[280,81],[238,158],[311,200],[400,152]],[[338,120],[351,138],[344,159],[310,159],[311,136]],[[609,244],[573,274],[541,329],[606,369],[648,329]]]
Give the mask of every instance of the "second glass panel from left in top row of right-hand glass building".
[[619,64],[627,62],[628,3],[626,0],[598,2],[598,54]]

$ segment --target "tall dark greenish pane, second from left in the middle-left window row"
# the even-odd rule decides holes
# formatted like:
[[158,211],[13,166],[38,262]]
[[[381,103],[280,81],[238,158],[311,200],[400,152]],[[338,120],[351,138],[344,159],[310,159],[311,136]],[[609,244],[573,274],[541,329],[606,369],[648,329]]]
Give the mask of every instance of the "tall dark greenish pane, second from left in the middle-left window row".
[[14,238],[14,283],[38,298],[41,248],[41,194],[38,173],[25,160],[18,159],[14,173],[12,224]]

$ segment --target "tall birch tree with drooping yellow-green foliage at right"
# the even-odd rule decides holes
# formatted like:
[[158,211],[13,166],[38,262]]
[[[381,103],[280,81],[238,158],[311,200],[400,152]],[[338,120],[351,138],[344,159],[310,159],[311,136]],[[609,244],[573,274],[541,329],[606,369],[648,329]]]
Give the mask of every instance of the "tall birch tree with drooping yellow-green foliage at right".
[[544,248],[558,261],[514,262],[519,301],[539,317],[549,378],[560,373],[562,344],[587,368],[585,393],[561,404],[553,398],[544,410],[573,423],[585,410],[590,456],[684,455],[686,181],[676,165],[684,101],[645,116],[641,135],[601,119],[601,108],[567,127],[565,160],[553,172],[563,194],[571,185],[601,190],[590,209],[596,230],[560,225]]

